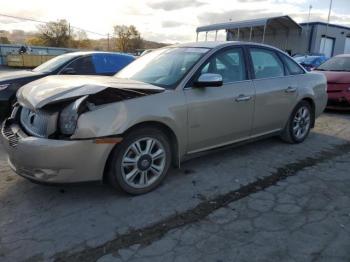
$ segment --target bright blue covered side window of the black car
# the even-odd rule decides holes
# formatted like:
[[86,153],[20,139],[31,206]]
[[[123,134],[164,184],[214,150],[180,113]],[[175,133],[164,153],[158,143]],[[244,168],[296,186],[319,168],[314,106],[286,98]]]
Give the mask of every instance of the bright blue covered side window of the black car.
[[117,54],[94,54],[92,61],[97,74],[114,75],[134,61],[134,58]]

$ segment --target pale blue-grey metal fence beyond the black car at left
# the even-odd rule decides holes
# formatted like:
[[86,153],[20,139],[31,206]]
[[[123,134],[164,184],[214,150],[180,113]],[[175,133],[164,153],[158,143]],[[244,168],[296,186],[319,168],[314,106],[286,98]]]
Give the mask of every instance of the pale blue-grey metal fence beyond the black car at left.
[[[21,45],[6,45],[0,44],[0,65],[7,65],[7,55],[18,54]],[[30,46],[30,53],[37,55],[52,55],[57,56],[64,53],[78,51],[72,48],[45,47],[45,46]]]

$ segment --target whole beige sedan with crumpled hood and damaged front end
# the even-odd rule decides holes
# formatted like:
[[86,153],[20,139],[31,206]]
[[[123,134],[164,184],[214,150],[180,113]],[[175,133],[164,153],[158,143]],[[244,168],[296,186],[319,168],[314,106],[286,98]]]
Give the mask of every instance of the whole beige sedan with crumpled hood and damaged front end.
[[10,166],[45,183],[157,187],[170,164],[258,137],[301,143],[327,103],[326,78],[266,45],[155,50],[114,77],[50,76],[23,86],[2,126]]

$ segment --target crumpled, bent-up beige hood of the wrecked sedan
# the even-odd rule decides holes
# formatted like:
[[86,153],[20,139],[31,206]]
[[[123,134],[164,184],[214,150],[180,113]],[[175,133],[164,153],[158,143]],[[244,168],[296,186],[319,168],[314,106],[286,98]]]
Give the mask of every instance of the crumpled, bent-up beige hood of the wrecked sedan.
[[18,102],[31,109],[71,98],[99,93],[107,88],[130,92],[158,93],[164,88],[110,76],[48,76],[24,85],[17,93]]

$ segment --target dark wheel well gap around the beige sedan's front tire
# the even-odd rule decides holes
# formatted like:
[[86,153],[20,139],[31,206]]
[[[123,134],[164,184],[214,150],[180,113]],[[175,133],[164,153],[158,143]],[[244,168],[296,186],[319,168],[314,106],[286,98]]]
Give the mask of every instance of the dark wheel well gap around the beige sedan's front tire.
[[[130,132],[136,130],[136,129],[141,129],[141,128],[145,128],[145,127],[153,127],[153,128],[157,128],[159,130],[161,130],[170,140],[170,148],[171,148],[171,153],[172,153],[172,164],[175,167],[179,166],[179,144],[178,144],[178,140],[177,137],[174,133],[174,131],[167,125],[160,123],[160,122],[156,122],[156,121],[147,121],[147,122],[142,122],[139,124],[136,124],[132,127],[130,127],[129,129],[127,129],[122,136],[126,136],[128,135]],[[118,145],[116,145],[118,146]],[[114,150],[114,149],[113,149]],[[110,152],[108,158],[107,158],[107,163],[105,165],[105,170],[103,173],[103,182],[106,182],[106,174],[107,172],[109,172],[109,168],[110,168],[110,158],[112,155],[113,150]]]

